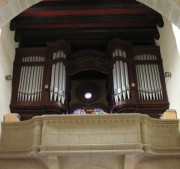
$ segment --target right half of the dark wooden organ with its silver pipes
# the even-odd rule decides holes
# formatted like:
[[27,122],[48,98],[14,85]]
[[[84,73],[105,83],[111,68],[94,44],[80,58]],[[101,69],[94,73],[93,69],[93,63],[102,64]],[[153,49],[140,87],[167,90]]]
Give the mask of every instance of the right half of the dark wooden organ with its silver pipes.
[[133,46],[116,39],[108,49],[113,64],[112,112],[158,117],[169,106],[159,47]]

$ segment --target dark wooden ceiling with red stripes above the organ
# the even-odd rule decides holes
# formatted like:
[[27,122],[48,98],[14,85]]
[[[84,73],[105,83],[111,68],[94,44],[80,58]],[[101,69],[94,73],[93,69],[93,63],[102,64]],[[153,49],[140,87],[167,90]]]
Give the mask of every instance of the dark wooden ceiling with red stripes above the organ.
[[153,44],[160,14],[135,0],[44,0],[10,24],[21,47],[67,40],[72,49],[104,49],[112,39]]

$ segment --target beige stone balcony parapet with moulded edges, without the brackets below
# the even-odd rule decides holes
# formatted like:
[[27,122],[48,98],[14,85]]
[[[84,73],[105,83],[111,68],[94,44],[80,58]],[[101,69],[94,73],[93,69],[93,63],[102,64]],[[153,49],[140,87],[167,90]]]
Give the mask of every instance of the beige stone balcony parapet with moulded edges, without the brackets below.
[[0,159],[92,154],[180,156],[180,122],[109,114],[50,115],[2,123]]

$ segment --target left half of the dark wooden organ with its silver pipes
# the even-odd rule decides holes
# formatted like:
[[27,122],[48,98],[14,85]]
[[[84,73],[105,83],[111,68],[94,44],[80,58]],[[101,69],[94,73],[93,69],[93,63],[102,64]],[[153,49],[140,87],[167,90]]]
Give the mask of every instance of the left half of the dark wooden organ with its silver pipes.
[[12,112],[18,112],[22,119],[67,112],[66,58],[69,52],[65,41],[48,43],[45,48],[16,50]]

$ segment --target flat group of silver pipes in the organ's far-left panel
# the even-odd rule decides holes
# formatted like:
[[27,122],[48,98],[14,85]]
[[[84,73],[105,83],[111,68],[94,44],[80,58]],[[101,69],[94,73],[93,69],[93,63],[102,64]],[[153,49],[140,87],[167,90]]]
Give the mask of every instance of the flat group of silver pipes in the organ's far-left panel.
[[[22,58],[22,63],[43,62],[44,57],[28,56]],[[44,66],[23,65],[20,72],[18,87],[18,102],[36,102],[41,100]]]

